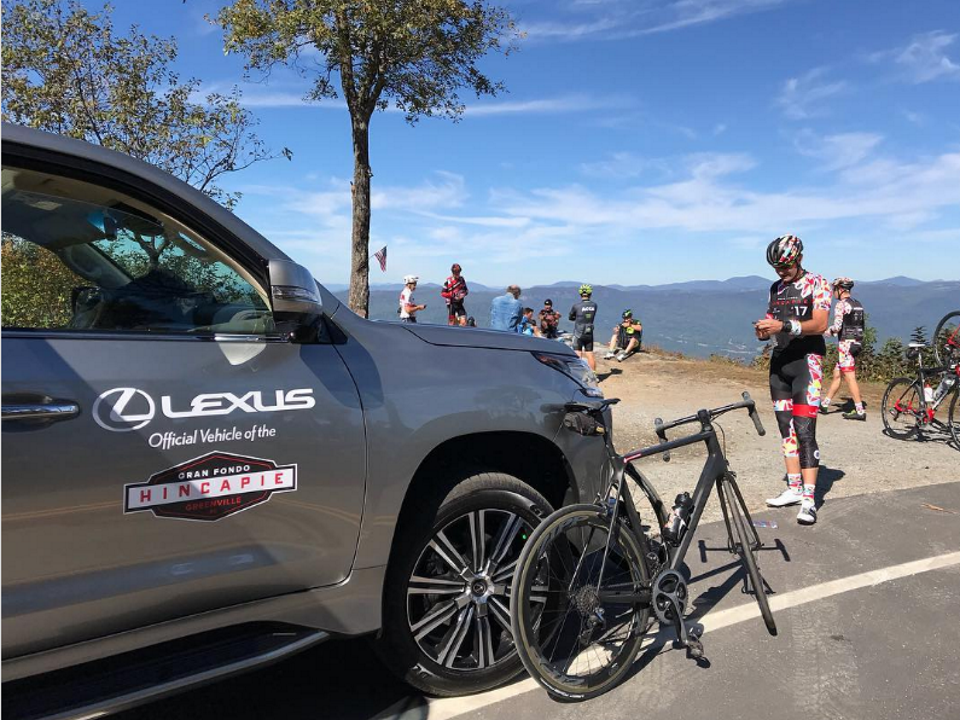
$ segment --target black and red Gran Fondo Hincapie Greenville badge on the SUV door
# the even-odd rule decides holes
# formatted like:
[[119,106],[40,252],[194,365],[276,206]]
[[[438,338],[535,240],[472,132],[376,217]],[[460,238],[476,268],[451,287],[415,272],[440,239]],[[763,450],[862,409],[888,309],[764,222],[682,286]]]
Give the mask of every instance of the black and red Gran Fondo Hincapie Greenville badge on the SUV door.
[[123,512],[219,520],[296,489],[296,465],[215,451],[125,485]]

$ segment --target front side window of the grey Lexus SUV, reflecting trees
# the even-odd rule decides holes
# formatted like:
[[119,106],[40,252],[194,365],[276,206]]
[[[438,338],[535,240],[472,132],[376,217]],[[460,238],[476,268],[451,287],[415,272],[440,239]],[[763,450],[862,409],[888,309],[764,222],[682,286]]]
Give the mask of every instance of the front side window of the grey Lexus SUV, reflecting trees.
[[173,218],[109,188],[3,168],[5,329],[264,335],[267,296]]

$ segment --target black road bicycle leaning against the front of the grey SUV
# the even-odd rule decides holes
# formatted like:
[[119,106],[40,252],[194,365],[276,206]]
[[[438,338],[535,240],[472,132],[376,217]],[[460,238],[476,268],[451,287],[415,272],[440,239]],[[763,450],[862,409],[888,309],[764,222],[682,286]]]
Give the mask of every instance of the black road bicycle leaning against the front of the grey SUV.
[[[691,657],[703,656],[697,628],[688,627],[683,617],[688,602],[683,560],[714,487],[727,549],[740,556],[749,578],[746,589],[756,597],[767,630],[777,634],[754,555],[762,543],[713,424],[724,413],[746,409],[757,432],[764,435],[754,401],[743,393],[743,400],[732,405],[700,410],[666,424],[658,418],[655,427],[661,442],[624,455],[613,449],[603,422],[604,410],[616,402],[590,400],[565,406],[567,428],[603,436],[611,479],[595,504],[561,508],[537,526],[513,578],[511,621],[520,658],[547,692],[568,699],[595,697],[625,677],[648,630],[651,611],[661,625],[675,628]],[[667,430],[695,423],[700,425],[698,432],[667,440]],[[693,496],[681,494],[677,507],[668,510],[632,463],[660,454],[669,460],[671,450],[701,442],[707,459]],[[649,502],[650,517],[640,517],[627,478]]]

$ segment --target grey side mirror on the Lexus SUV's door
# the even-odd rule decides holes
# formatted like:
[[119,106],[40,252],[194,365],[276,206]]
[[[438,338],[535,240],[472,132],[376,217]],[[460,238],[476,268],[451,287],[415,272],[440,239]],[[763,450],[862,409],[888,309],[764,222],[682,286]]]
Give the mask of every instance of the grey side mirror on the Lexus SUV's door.
[[294,342],[315,342],[323,312],[317,281],[309,270],[289,260],[271,260],[267,269],[277,329]]

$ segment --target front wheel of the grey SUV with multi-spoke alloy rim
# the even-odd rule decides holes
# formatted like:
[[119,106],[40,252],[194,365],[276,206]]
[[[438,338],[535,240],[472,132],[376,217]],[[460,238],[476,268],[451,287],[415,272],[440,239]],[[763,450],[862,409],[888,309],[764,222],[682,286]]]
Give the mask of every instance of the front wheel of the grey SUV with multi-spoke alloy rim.
[[[445,485],[453,486],[446,496],[420,498],[398,530],[375,641],[394,673],[438,697],[489,690],[523,670],[510,625],[510,583],[526,538],[553,511],[511,475],[463,474]],[[478,582],[482,592],[475,592]]]

